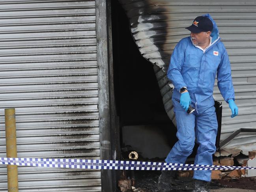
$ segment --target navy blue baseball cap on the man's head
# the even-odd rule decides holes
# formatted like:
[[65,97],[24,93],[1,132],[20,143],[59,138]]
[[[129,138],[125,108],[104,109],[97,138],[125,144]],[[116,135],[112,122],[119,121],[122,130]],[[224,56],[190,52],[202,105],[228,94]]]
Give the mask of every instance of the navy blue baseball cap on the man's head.
[[192,33],[198,34],[200,32],[207,32],[213,30],[213,23],[211,19],[205,16],[199,16],[194,19],[191,26],[186,29],[190,30]]

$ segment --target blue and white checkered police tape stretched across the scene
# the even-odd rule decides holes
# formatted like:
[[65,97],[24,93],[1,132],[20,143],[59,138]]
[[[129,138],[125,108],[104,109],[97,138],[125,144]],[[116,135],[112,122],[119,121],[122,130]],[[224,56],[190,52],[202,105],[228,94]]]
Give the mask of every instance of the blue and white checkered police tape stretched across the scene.
[[165,162],[88,160],[67,158],[6,158],[0,157],[0,164],[37,167],[58,167],[97,170],[245,170],[256,167],[194,165]]

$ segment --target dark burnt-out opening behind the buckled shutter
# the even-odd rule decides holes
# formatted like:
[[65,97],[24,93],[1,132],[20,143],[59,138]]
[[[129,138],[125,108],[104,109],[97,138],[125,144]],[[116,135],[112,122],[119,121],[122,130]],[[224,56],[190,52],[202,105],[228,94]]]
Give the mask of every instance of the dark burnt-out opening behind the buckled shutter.
[[121,148],[137,151],[140,160],[164,160],[177,141],[176,127],[165,112],[153,65],[142,57],[133,40],[125,11],[118,1],[112,1],[111,7]]

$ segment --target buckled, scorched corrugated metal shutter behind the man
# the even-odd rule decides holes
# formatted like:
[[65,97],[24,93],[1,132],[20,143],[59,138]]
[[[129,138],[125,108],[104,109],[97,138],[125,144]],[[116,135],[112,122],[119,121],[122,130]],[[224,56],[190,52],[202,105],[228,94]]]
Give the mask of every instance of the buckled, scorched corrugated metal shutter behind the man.
[[[255,128],[256,121],[256,2],[255,0],[120,0],[130,19],[131,32],[144,58],[155,63],[163,102],[170,119],[172,95],[166,71],[178,41],[189,36],[185,27],[199,15],[210,13],[227,48],[239,116],[230,118],[230,109],[215,84],[214,97],[223,103],[221,140],[239,128]],[[175,122],[174,122],[175,123]],[[227,147],[256,149],[256,136],[241,134]]]

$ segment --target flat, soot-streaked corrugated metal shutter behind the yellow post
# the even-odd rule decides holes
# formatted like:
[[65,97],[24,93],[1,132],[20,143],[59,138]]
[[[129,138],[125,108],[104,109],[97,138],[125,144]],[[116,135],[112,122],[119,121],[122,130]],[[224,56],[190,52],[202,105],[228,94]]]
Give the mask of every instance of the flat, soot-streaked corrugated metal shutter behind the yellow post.
[[[0,13],[0,156],[4,108],[16,108],[18,157],[99,159],[95,2],[1,0]],[[100,171],[18,171],[21,192],[101,191]]]

